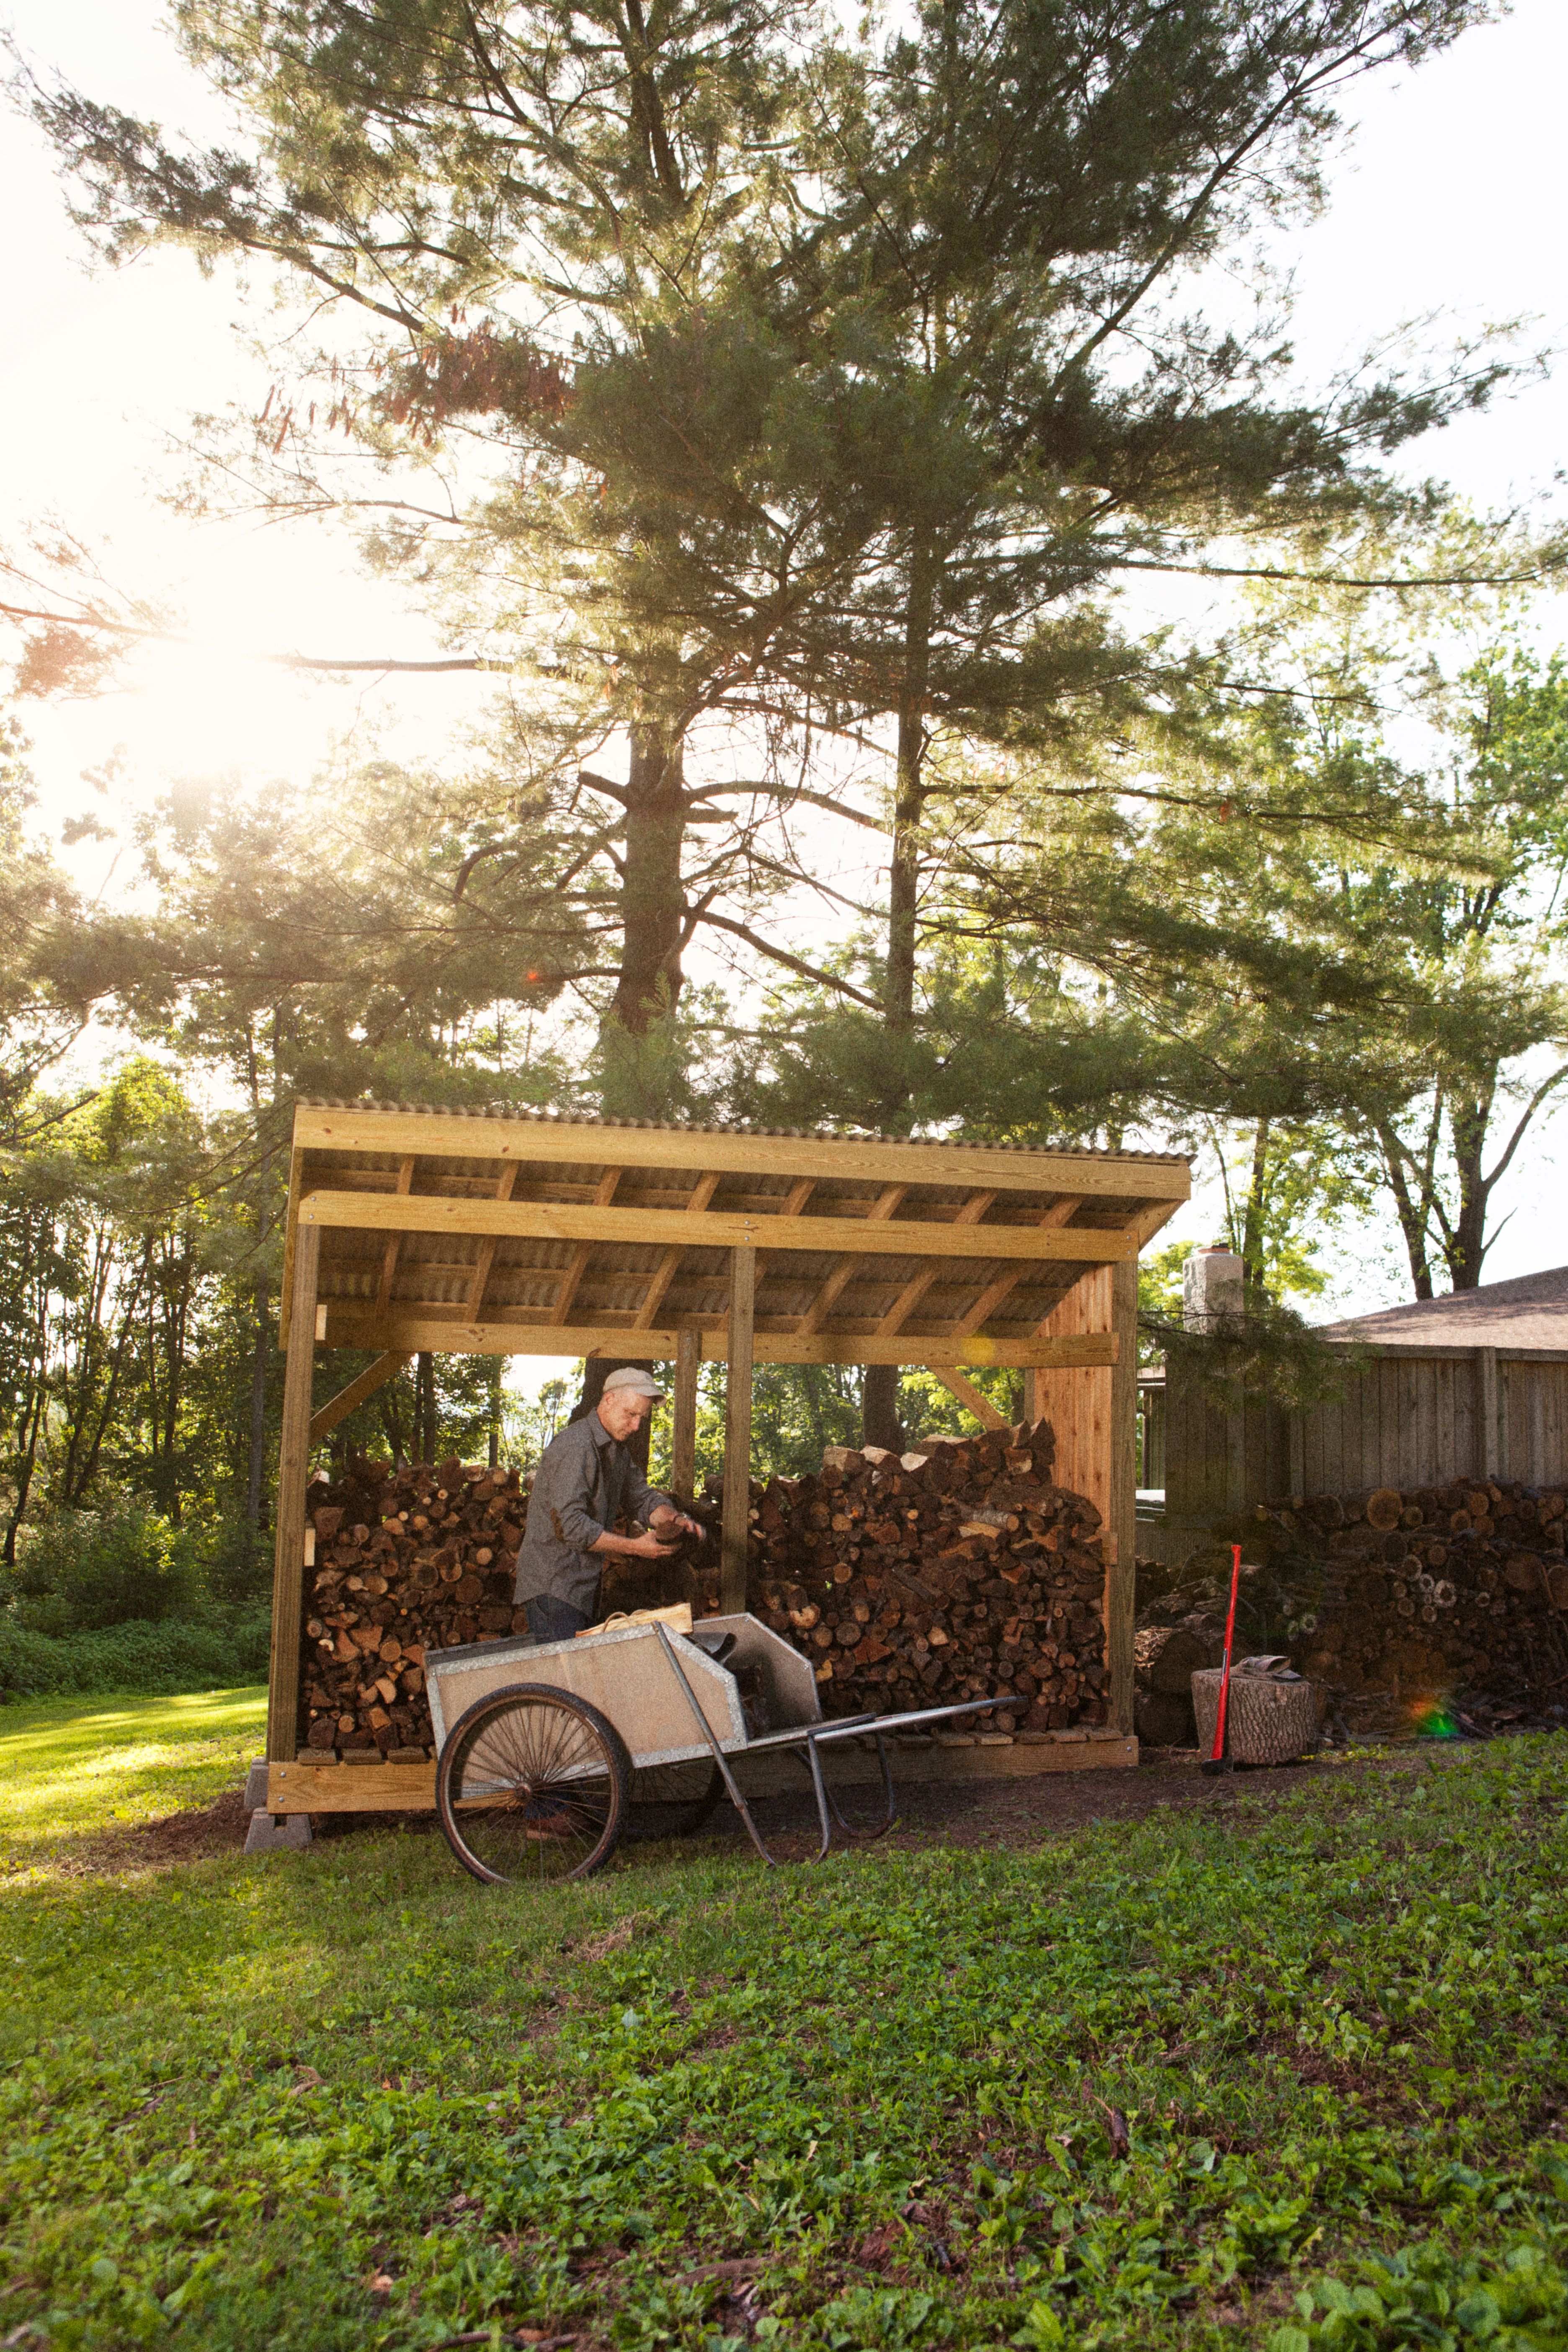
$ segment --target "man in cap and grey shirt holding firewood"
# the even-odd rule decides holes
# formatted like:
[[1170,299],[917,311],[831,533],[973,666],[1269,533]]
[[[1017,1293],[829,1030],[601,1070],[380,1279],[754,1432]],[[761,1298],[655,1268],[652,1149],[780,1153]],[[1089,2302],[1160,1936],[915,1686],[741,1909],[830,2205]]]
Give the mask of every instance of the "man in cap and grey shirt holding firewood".
[[[592,1414],[567,1423],[545,1446],[529,1494],[529,1522],[517,1552],[517,1604],[536,1642],[569,1642],[599,1616],[602,1559],[670,1559],[675,1538],[701,1536],[668,1494],[658,1494],[625,1449],[663,1390],[630,1364],[611,1371]],[[630,1515],[642,1534],[616,1536]]]

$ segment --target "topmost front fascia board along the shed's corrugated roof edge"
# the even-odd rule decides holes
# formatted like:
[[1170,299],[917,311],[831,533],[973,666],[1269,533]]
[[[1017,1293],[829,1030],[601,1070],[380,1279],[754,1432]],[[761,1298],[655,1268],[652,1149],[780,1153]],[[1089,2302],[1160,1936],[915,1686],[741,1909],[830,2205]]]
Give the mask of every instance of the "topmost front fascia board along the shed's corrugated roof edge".
[[421,1152],[442,1160],[531,1160],[703,1169],[757,1176],[853,1176],[872,1183],[994,1185],[999,1192],[1079,1192],[1086,1200],[1168,1200],[1192,1192],[1185,1160],[1138,1152],[1034,1152],[987,1143],[867,1143],[853,1136],[755,1136],[682,1127],[597,1127],[578,1120],[475,1120],[463,1112],[336,1110],[301,1103],[296,1150]]

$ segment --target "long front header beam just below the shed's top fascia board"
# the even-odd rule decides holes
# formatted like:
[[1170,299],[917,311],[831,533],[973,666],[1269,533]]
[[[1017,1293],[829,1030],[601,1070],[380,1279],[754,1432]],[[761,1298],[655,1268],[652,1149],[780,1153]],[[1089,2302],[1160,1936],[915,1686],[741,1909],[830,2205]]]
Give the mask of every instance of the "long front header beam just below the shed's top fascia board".
[[[907,1185],[893,1185],[905,1192]],[[889,1195],[884,1192],[882,1200]],[[969,1225],[896,1218],[875,1202],[870,1216],[738,1216],[705,1209],[592,1209],[569,1202],[440,1200],[416,1192],[308,1192],[301,1225],[346,1232],[494,1232],[522,1242],[665,1242],[679,1249],[802,1249],[811,1256],[884,1258],[1016,1258],[1030,1263],[1114,1265],[1138,1256],[1131,1232],[1105,1225],[1053,1230],[1032,1225]]]

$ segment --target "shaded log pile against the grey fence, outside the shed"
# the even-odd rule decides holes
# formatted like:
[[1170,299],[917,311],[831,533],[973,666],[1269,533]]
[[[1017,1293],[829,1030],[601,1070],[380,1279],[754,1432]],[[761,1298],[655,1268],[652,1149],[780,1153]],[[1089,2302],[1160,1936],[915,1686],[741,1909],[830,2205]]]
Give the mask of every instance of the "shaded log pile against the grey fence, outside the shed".
[[[1218,1536],[1246,1571],[1237,1653],[1284,1649],[1356,1731],[1455,1700],[1523,1719],[1568,1698],[1568,1515],[1561,1489],[1497,1479],[1260,1503]],[[1199,1592],[1140,1611],[1138,1729],[1180,1743],[1182,1679],[1218,1663],[1218,1555]],[[1194,1602],[1199,1606],[1194,1606]],[[1187,1705],[1190,1722],[1190,1705]]]

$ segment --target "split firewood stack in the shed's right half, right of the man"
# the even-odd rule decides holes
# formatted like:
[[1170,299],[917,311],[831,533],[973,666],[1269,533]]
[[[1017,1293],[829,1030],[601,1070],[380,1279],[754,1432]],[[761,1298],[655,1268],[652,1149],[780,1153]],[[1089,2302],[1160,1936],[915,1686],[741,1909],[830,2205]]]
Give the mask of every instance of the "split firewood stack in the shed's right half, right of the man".
[[813,1661],[825,1715],[1006,1696],[978,1729],[1105,1722],[1100,1512],[1051,1482],[1053,1451],[1041,1421],[752,1482],[752,1609]]

